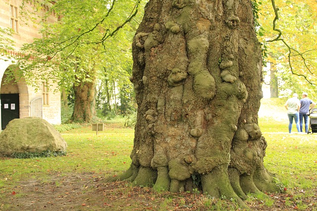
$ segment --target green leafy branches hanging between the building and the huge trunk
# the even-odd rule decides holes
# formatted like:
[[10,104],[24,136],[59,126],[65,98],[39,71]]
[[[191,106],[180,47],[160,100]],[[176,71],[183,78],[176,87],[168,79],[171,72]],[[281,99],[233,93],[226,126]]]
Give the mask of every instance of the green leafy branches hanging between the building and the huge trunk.
[[[49,71],[51,79],[66,89],[103,75],[104,68],[112,75],[124,73],[132,64],[130,49],[136,23],[129,22],[133,17],[140,18],[139,3],[138,0],[58,0],[50,4],[45,16],[54,12],[60,19],[42,22],[45,36],[24,45],[22,53],[32,51],[34,59],[31,63],[20,60],[22,71],[33,80],[45,80]],[[45,74],[41,71],[44,69]],[[30,70],[39,71],[30,73]]]

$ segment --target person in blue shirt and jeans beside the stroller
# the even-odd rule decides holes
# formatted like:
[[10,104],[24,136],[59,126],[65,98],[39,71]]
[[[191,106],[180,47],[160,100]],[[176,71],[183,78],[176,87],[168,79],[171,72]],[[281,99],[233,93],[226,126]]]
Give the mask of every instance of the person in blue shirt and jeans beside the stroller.
[[314,108],[316,106],[316,103],[309,99],[307,92],[303,92],[302,94],[302,99],[300,100],[301,103],[301,108],[299,109],[299,125],[301,128],[301,132],[303,132],[303,117],[305,121],[305,132],[308,132],[308,114],[309,114],[309,109]]

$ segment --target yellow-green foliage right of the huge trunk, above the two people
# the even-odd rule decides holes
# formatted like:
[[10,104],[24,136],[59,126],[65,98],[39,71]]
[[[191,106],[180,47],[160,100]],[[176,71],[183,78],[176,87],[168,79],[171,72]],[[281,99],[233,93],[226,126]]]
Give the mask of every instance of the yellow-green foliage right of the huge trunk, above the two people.
[[[272,63],[277,70],[280,96],[303,91],[316,95],[317,42],[312,39],[317,36],[316,3],[275,0],[278,18],[274,27],[281,32],[281,37],[276,40],[278,32],[273,31],[276,16],[272,1],[261,2],[257,4],[261,26],[258,38],[265,44],[264,64]],[[276,41],[269,42],[272,40]]]

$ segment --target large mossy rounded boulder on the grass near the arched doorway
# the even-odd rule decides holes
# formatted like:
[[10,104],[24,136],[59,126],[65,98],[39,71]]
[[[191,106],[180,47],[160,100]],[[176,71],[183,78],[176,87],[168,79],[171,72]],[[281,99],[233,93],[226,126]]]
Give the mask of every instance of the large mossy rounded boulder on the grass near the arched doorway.
[[13,153],[65,152],[67,143],[41,118],[14,119],[0,133],[0,157]]

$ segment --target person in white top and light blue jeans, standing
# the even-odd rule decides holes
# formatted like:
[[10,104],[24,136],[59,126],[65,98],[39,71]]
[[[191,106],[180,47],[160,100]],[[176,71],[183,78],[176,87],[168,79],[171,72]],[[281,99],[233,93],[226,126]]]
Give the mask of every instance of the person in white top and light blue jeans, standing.
[[299,125],[299,109],[301,107],[301,103],[298,99],[298,94],[294,93],[292,98],[289,98],[285,103],[285,108],[287,109],[287,116],[289,119],[288,124],[288,132],[292,132],[293,126],[293,119],[295,120],[297,131],[300,132],[300,125]]

